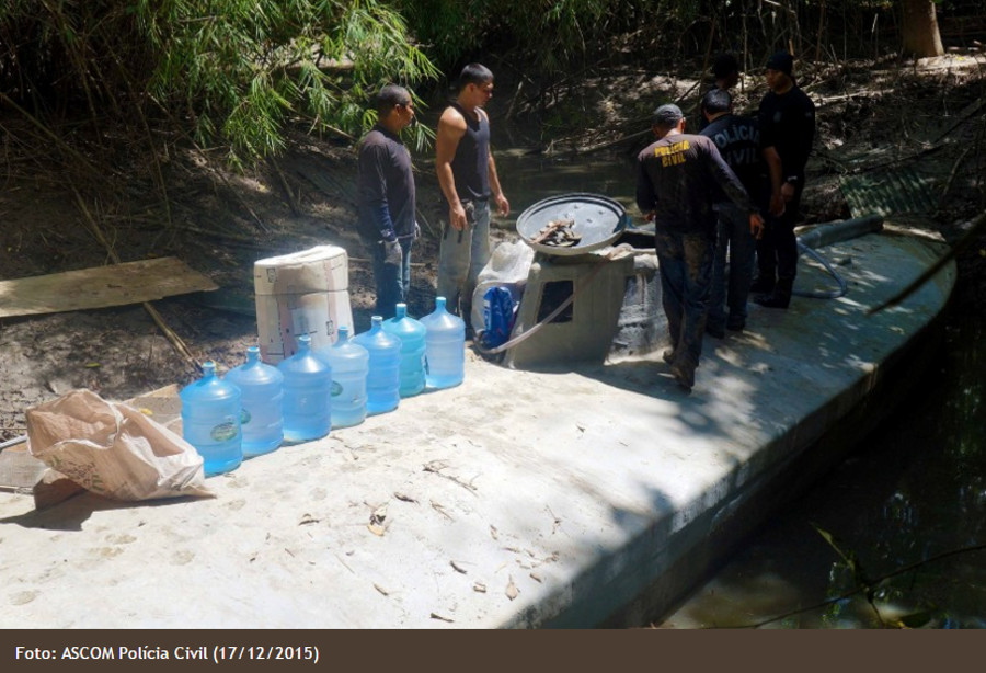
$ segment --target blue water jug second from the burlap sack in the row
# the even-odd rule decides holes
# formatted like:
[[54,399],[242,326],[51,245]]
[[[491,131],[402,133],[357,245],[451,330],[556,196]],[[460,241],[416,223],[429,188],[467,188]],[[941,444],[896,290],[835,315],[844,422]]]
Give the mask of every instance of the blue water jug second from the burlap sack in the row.
[[229,370],[226,380],[240,389],[243,457],[270,454],[284,442],[284,374],[264,364],[260,347],[246,349],[246,362]]

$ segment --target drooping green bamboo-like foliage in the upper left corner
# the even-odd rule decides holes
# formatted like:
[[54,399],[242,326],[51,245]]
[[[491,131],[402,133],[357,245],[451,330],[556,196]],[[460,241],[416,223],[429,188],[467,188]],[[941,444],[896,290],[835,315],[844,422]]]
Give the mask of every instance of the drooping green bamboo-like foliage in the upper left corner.
[[0,44],[4,90],[37,114],[80,95],[93,117],[158,109],[233,162],[296,122],[358,135],[376,89],[438,75],[382,0],[8,0]]

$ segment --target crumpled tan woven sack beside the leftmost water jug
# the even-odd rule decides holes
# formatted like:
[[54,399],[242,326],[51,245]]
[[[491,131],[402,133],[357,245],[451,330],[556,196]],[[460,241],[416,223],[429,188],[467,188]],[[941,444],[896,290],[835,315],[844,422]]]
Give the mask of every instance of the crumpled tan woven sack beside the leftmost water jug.
[[26,415],[31,454],[87,490],[128,501],[213,495],[192,445],[127,404],[72,390]]

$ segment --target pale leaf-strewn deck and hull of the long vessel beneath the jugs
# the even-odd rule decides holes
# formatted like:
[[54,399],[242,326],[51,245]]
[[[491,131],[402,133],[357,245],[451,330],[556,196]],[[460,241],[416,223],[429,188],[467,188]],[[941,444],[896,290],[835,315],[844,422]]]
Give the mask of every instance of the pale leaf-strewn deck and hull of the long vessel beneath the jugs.
[[[691,395],[656,356],[534,373],[470,354],[462,386],[210,478],[215,499],[34,511],[0,493],[0,626],[591,627],[666,611],[767,511],[747,505],[827,431],[847,442],[858,426],[840,421],[909,364],[954,266],[865,312],[940,251],[885,233],[824,249],[851,260],[849,294],[753,307],[747,332],[707,340]],[[821,278],[802,264],[799,287]]]

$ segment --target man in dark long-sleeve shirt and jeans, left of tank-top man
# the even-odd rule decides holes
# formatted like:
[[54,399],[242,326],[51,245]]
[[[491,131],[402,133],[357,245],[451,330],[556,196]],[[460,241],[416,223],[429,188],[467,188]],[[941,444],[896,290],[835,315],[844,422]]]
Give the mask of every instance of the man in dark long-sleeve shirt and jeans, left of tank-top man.
[[414,175],[400,133],[414,119],[411,94],[388,84],[377,94],[377,124],[359,145],[358,230],[370,252],[377,285],[375,313],[392,318],[411,288]]

